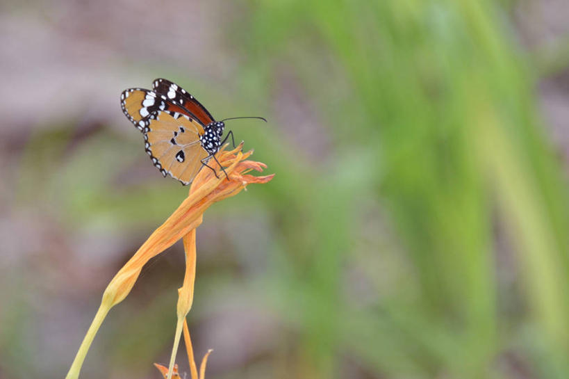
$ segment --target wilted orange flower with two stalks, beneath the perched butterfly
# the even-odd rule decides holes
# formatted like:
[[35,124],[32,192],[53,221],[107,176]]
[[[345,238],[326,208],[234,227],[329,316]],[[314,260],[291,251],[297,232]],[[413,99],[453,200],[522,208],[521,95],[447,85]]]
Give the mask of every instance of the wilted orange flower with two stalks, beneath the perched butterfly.
[[[67,373],[66,379],[76,379],[79,377],[79,371],[85,355],[92,343],[94,335],[103,323],[106,314],[113,306],[120,303],[129,294],[133,288],[142,267],[156,255],[169,248],[176,241],[183,238],[184,250],[186,255],[186,272],[183,287],[179,290],[179,300],[177,305],[178,323],[176,325],[176,340],[174,341],[174,350],[172,351],[172,359],[170,362],[170,370],[174,368],[175,350],[179,343],[179,337],[185,321],[185,315],[188,314],[193,299],[194,277],[195,277],[195,228],[202,222],[204,211],[211,204],[224,200],[227,197],[238,194],[247,184],[251,183],[267,183],[273,175],[255,177],[250,175],[252,170],[263,171],[265,164],[255,161],[247,161],[246,159],[252,154],[252,151],[242,152],[242,143],[234,150],[226,151],[222,147],[216,154],[217,161],[224,167],[226,175],[222,174],[221,167],[217,163],[211,163],[213,168],[221,174],[217,177],[213,170],[200,170],[195,177],[188,197],[183,200],[178,209],[165,220],[140,246],[137,252],[124,264],[119,272],[110,281],[106,288],[101,305],[97,314],[95,314],[90,328],[85,335],[85,339],[79,347],[79,351],[75,360]],[[209,163],[209,162],[208,162]],[[189,334],[188,334],[189,339]],[[204,361],[207,360],[207,355]],[[204,366],[205,370],[205,366]],[[194,378],[197,379],[197,378]]]

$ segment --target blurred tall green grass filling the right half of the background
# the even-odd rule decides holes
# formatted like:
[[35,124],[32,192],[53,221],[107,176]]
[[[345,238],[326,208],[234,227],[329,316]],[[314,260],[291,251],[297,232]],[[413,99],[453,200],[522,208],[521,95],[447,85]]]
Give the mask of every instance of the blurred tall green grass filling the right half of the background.
[[[288,280],[290,298],[305,302],[290,307],[304,310],[302,360],[314,370],[306,376],[337,377],[338,357],[347,355],[394,378],[502,377],[500,359],[521,351],[537,377],[566,378],[566,178],[543,134],[536,68],[507,8],[256,5],[249,66],[294,65],[313,105],[329,104],[320,109],[335,141],[329,166],[303,172],[304,188],[284,186],[274,197],[295,193],[295,204],[310,204],[308,215],[299,205],[308,225],[290,220],[310,229],[308,241],[283,241],[283,250],[310,257]],[[327,59],[337,62],[332,70]],[[335,88],[338,74],[347,88]],[[388,210],[412,277],[386,298],[351,307],[343,268],[354,260],[370,197]],[[497,278],[498,237],[519,265],[513,288]],[[375,247],[389,254],[380,241]],[[503,306],[511,298],[519,303]]]

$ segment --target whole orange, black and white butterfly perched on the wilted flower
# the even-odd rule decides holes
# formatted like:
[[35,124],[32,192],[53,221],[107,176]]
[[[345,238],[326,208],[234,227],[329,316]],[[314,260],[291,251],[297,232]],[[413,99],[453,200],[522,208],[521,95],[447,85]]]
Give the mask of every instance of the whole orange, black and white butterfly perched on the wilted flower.
[[[121,108],[126,118],[145,136],[145,150],[162,175],[170,175],[187,186],[201,168],[208,167],[210,159],[231,136],[222,140],[226,118],[216,121],[211,113],[183,88],[166,79],[152,82],[152,90],[129,88],[120,95]],[[251,117],[265,120],[261,117]],[[229,177],[227,177],[229,179]]]

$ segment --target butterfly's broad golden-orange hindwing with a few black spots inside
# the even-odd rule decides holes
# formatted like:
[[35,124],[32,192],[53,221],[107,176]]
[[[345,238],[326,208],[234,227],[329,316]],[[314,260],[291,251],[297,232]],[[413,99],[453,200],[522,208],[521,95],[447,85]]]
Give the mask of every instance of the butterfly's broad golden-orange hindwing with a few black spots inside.
[[209,155],[199,140],[204,134],[201,124],[187,115],[159,110],[149,115],[145,129],[145,149],[154,166],[162,175],[190,184]]

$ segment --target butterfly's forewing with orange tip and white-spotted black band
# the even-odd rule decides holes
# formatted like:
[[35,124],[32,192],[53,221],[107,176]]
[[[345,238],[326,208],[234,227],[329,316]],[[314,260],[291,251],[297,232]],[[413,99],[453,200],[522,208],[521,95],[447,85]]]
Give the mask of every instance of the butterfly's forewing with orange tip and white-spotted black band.
[[176,117],[183,113],[191,117],[187,109],[170,101],[165,95],[144,88],[129,88],[120,95],[120,105],[126,118],[143,133],[148,128],[150,116],[156,111],[164,111]]

